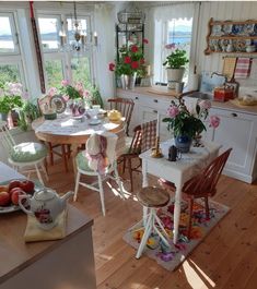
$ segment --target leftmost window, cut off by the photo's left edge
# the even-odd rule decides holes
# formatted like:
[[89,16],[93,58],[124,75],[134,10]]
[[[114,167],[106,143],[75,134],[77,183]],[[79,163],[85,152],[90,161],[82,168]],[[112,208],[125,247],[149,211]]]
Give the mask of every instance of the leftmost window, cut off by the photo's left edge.
[[24,71],[13,13],[0,13],[0,83],[20,82]]

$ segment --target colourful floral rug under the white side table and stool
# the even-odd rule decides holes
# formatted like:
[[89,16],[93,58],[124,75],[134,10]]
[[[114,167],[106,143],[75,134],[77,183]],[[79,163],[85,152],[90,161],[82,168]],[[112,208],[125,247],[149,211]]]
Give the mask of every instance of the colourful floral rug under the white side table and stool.
[[[194,205],[194,217],[191,227],[191,238],[186,237],[188,224],[188,206],[187,202],[182,202],[182,214],[179,221],[179,238],[176,245],[173,244],[173,213],[174,202],[165,208],[157,210],[157,216],[162,220],[164,228],[171,237],[170,248],[167,248],[157,234],[151,234],[143,254],[155,260],[161,266],[167,270],[174,270],[185,261],[187,255],[203,240],[210,230],[227,214],[230,208],[214,201],[209,201],[210,218],[206,218],[203,202],[197,201]],[[132,226],[124,236],[124,240],[135,249],[139,248],[139,243],[143,236],[142,221]]]

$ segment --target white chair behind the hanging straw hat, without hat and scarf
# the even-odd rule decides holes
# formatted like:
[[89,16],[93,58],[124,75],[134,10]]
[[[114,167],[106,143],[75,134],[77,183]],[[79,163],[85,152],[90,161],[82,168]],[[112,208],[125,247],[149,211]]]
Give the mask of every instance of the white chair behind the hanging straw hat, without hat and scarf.
[[[118,134],[120,135],[125,135],[125,130],[122,129],[121,133],[118,132]],[[103,181],[105,181],[106,179],[112,179],[115,180],[119,186],[119,193],[120,196],[124,198],[124,188],[122,188],[122,183],[120,181],[119,174],[118,174],[118,169],[117,169],[117,148],[119,147],[119,144],[117,144],[118,141],[118,136],[114,133],[107,133],[106,134],[107,137],[115,137],[114,142],[114,158],[113,160],[109,162],[108,167],[105,170],[104,174],[101,174],[97,170],[93,170],[90,168],[89,166],[89,159],[85,156],[85,152],[80,152],[77,155],[75,158],[75,162],[77,162],[77,168],[78,168],[78,172],[77,172],[77,178],[75,178],[75,188],[74,188],[74,197],[73,201],[77,201],[78,197],[78,191],[79,191],[79,185],[89,188],[93,191],[100,192],[100,198],[101,198],[101,204],[102,204],[102,212],[103,215],[105,216],[105,203],[104,203],[104,189],[103,189]],[[90,139],[87,140],[87,142],[90,141]],[[122,140],[120,139],[119,141],[122,142]],[[86,146],[87,146],[87,142],[86,142]],[[118,149],[119,150],[119,149]],[[110,160],[110,159],[109,159]],[[97,180],[93,183],[85,183],[81,181],[81,174],[85,174],[85,176],[93,176],[93,177],[97,177]]]

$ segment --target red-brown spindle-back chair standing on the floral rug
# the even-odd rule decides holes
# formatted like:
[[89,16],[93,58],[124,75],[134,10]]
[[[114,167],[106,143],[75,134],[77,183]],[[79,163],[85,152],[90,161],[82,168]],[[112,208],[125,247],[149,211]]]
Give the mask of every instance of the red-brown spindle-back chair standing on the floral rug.
[[[207,166],[200,173],[192,177],[183,186],[183,194],[188,198],[189,202],[189,221],[187,228],[188,238],[190,238],[191,231],[194,201],[195,198],[199,197],[205,198],[206,217],[209,218],[210,213],[208,197],[213,196],[217,193],[217,183],[220,179],[221,172],[225,166],[231,150],[232,148],[229,148],[222,155],[218,156],[214,160],[211,161],[209,166]],[[165,189],[170,189],[173,192],[175,191],[175,186],[171,182],[166,182],[165,180],[160,179],[159,183]]]

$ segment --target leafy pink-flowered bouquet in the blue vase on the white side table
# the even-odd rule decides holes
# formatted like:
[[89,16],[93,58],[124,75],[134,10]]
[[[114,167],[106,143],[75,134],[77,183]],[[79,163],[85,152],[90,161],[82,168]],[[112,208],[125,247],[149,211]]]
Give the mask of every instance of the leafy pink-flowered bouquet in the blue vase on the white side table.
[[[209,115],[211,103],[209,100],[201,100],[197,103],[194,111],[189,111],[185,105],[184,99],[178,98],[178,104],[172,100],[170,108],[167,109],[167,118],[163,119],[163,122],[167,123],[168,131],[173,131],[174,136],[186,135],[195,137],[202,131],[206,131],[206,125],[202,120],[206,120]],[[210,127],[217,128],[220,123],[218,117],[215,122],[214,116],[210,118]]]

